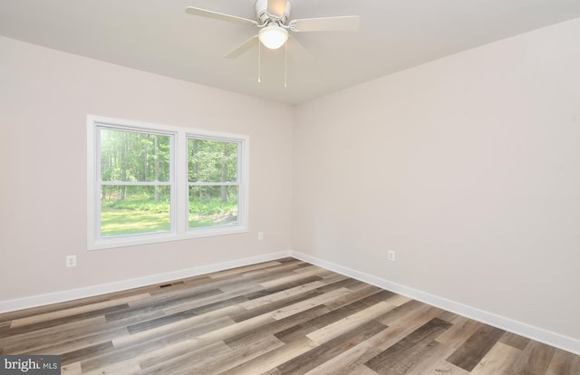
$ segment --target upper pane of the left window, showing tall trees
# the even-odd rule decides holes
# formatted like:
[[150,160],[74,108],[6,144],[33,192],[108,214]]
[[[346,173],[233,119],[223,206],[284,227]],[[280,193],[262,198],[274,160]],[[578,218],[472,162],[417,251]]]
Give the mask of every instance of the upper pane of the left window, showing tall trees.
[[169,181],[170,137],[101,128],[102,181]]

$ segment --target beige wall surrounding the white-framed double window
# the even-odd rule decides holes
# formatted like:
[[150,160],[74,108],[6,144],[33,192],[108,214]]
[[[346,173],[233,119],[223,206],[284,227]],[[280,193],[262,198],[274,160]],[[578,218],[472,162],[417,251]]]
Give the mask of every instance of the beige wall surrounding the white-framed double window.
[[[291,248],[292,107],[2,37],[0,51],[0,301]],[[87,252],[87,114],[249,135],[250,233]]]

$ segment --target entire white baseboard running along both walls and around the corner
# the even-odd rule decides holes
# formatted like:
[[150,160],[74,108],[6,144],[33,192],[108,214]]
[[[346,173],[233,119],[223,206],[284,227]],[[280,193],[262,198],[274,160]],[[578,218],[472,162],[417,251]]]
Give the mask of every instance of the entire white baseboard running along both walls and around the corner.
[[538,328],[523,322],[517,322],[512,319],[491,313],[485,312],[468,305],[450,301],[445,298],[438,297],[430,293],[424,293],[417,289],[410,288],[405,285],[392,283],[388,280],[372,276],[371,274],[364,274],[362,272],[353,270],[340,264],[324,261],[311,255],[304,255],[295,251],[285,251],[279,253],[271,253],[266,255],[257,255],[234,261],[222,262],[218,264],[201,265],[194,268],[179,270],[166,274],[155,274],[151,276],[140,277],[136,279],[123,280],[116,283],[100,284],[89,286],[86,288],[73,289],[57,293],[48,293],[42,295],[35,295],[31,297],[18,298],[8,301],[0,301],[0,312],[13,312],[16,310],[23,310],[31,307],[42,306],[51,303],[62,303],[72,301],[79,298],[91,297],[94,295],[104,293],[120,292],[140,286],[147,286],[152,284],[167,283],[169,281],[184,279],[187,277],[197,276],[199,274],[209,274],[227,270],[230,268],[241,267],[249,264],[256,264],[261,262],[273,261],[276,259],[292,256],[296,259],[303,260],[310,264],[315,264],[327,270],[338,274],[344,274],[353,279],[360,280],[364,283],[378,286],[393,293],[405,295],[414,300],[429,303],[430,305],[439,307],[449,312],[454,312],[459,315],[466,316],[478,322],[498,327],[508,332],[514,332],[520,336],[527,337],[532,340],[544,342],[548,345],[560,348],[564,351],[571,351],[575,354],[580,354],[580,341],[571,337],[564,336],[556,332],[550,332],[542,328]]

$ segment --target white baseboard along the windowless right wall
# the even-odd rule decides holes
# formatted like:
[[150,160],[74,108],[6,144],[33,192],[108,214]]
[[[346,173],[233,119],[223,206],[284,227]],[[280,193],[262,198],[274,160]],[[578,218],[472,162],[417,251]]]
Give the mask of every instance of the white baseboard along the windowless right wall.
[[428,303],[432,306],[439,307],[440,309],[447,310],[449,312],[457,313],[469,319],[473,319],[478,322],[484,322],[499,329],[516,333],[520,336],[527,337],[528,339],[544,342],[564,351],[571,351],[575,354],[580,354],[580,340],[576,340],[556,332],[550,332],[545,329],[529,325],[527,323],[517,322],[495,313],[485,312],[483,310],[479,310],[462,303],[450,301],[448,299],[438,297],[437,295],[424,293],[405,285],[392,283],[388,280],[372,276],[371,274],[364,274],[362,272],[353,270],[352,268],[327,262],[323,259],[319,259],[311,255],[304,255],[302,253],[292,251],[290,252],[290,256],[310,264],[318,265],[337,274],[343,274],[345,276],[352,277],[353,279],[360,280],[364,283],[378,286],[393,293],[405,295],[422,303]]

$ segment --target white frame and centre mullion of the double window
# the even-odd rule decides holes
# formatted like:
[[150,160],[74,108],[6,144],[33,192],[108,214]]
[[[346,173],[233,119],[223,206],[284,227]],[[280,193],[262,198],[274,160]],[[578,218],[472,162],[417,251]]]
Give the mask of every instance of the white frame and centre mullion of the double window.
[[[171,229],[169,232],[102,237],[101,233],[101,166],[97,144],[100,126],[118,130],[144,131],[171,135],[173,152],[171,168]],[[188,139],[201,137],[238,144],[238,212],[237,224],[189,229]],[[207,236],[226,236],[248,231],[249,137],[240,134],[193,130],[170,125],[133,120],[87,116],[87,248],[100,250],[131,245],[147,245]],[[149,184],[149,183],[148,183]]]

